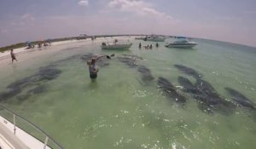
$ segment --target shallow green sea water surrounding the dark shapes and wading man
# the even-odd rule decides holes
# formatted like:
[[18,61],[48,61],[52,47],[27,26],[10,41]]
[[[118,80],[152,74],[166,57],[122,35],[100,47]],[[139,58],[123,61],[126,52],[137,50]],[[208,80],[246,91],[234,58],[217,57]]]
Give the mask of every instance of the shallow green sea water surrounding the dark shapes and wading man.
[[[195,78],[177,70],[175,64],[200,72],[218,95],[231,100],[224,89],[238,90],[256,101],[256,49],[232,43],[195,39],[195,49],[102,50],[100,43],[44,54],[14,66],[3,67],[0,91],[24,77],[30,81],[4,106],[20,113],[65,148],[252,148],[256,146],[256,114],[246,107],[236,107],[231,114],[202,112],[195,99],[184,93],[178,76]],[[155,43],[152,43],[153,45]],[[45,49],[47,50],[47,49]],[[84,54],[115,54],[100,67],[96,83],[91,83]],[[120,62],[123,54],[137,55],[139,66],[147,66],[153,81],[143,82],[137,67]],[[72,58],[71,58],[72,57]],[[40,67],[54,64],[60,74],[51,80],[35,80]],[[165,77],[188,100],[178,105],[158,88],[158,77]],[[38,86],[38,94],[27,91]],[[0,93],[1,93],[0,92]],[[22,98],[20,98],[22,97]],[[21,100],[20,100],[21,99]]]

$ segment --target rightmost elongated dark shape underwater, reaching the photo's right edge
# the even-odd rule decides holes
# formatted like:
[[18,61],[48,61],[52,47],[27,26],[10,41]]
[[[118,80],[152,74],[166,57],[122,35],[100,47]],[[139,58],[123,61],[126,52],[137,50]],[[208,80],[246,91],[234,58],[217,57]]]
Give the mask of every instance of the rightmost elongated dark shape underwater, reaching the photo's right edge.
[[225,88],[230,95],[232,95],[232,100],[235,100],[241,106],[249,107],[253,110],[256,109],[256,105],[252,100],[249,100],[245,95],[242,95],[235,89]]

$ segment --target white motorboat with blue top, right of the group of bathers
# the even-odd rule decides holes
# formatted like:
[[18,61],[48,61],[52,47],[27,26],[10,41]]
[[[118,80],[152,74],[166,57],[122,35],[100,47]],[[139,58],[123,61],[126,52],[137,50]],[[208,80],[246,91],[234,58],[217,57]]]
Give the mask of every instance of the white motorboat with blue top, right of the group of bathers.
[[184,49],[191,49],[195,47],[198,43],[188,41],[186,38],[181,40],[177,40],[173,43],[166,43],[167,48],[184,48]]

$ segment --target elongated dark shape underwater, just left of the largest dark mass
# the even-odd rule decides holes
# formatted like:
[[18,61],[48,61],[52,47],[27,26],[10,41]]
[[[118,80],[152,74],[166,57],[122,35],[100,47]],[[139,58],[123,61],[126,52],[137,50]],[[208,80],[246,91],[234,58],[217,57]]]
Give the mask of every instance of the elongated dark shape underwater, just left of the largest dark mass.
[[186,98],[183,95],[179,95],[172,83],[170,83],[166,78],[159,77],[157,84],[159,85],[159,88],[162,89],[172,100],[175,100],[180,104],[184,104],[186,102]]

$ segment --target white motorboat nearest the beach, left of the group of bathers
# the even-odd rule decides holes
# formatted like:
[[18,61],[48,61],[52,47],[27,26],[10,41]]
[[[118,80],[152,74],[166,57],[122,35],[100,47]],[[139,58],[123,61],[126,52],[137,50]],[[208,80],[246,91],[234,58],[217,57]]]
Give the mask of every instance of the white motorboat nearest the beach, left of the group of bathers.
[[118,43],[115,39],[113,43],[102,43],[102,49],[130,49],[132,43]]

